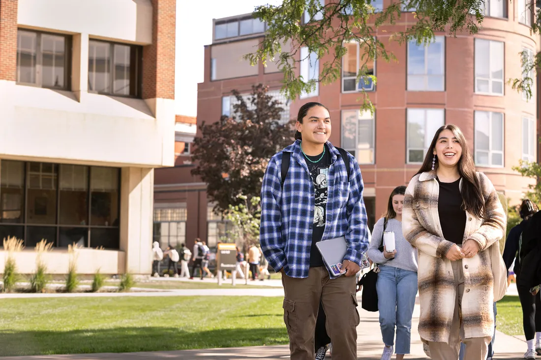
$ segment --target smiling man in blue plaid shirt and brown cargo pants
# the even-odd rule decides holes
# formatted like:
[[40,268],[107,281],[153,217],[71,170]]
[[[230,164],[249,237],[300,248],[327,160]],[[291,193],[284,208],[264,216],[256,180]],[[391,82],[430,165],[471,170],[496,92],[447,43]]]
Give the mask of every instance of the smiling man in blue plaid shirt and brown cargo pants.
[[[303,105],[296,130],[296,141],[271,158],[263,177],[263,255],[282,273],[291,359],[314,359],[320,301],[327,315],[333,358],[357,359],[355,274],[368,248],[361,171],[351,154],[328,142],[331,118],[324,105]],[[346,161],[342,156],[347,156]],[[289,166],[283,169],[286,157]],[[347,242],[342,262],[346,273],[335,277],[329,275],[315,244],[341,236]]]

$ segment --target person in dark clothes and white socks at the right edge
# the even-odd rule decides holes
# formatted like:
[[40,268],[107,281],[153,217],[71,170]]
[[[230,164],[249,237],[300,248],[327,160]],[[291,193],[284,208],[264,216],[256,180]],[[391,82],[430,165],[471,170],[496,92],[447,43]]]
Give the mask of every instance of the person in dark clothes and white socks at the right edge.
[[[533,294],[532,285],[525,281],[527,275],[538,264],[530,262],[528,248],[532,238],[539,237],[535,226],[535,220],[539,218],[537,205],[530,199],[524,199],[520,204],[519,215],[522,218],[520,224],[514,226],[509,235],[504,250],[504,261],[507,270],[514,261],[514,273],[517,276],[517,290],[522,307],[522,320],[524,335],[526,337],[525,359],[535,359],[536,354],[541,355],[541,298],[539,292]],[[530,234],[529,234],[530,233]],[[526,249],[525,249],[526,248]],[[539,284],[539,282],[537,282]]]

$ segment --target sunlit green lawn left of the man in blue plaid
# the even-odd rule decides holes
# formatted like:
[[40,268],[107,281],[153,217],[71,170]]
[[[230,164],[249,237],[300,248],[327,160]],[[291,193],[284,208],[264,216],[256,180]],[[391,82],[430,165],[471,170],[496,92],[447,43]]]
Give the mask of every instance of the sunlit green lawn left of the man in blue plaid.
[[287,344],[279,297],[0,300],[0,356]]

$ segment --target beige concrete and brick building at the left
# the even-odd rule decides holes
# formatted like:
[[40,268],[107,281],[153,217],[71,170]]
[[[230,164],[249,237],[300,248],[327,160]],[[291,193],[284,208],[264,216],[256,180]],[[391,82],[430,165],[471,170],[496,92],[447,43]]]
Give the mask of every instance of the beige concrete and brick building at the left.
[[81,274],[150,274],[154,168],[174,165],[175,0],[0,0],[0,17],[0,238],[24,239],[18,270],[46,239],[53,274],[71,243]]

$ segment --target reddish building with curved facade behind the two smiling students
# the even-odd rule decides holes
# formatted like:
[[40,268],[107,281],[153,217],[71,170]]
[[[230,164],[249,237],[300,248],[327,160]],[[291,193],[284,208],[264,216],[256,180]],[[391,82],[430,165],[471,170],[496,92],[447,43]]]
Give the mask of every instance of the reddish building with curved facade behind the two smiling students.
[[[377,0],[375,6],[382,9],[390,3]],[[439,33],[434,43],[418,46],[389,41],[390,34],[417,21],[412,12],[404,11],[394,25],[380,26],[374,34],[398,59],[368,64],[378,78],[377,85],[355,81],[361,65],[359,44],[347,44],[341,79],[320,84],[312,94],[289,105],[291,118],[309,101],[328,106],[333,123],[331,142],[354,154],[360,164],[370,226],[386,210],[392,189],[407,184],[418,171],[434,132],[446,123],[460,126],[478,169],[513,204],[532,183],[512,167],[521,158],[537,161],[537,86],[533,84],[533,98],[526,101],[507,81],[522,76],[519,52],[537,53],[539,37],[530,34],[532,14],[524,3],[487,1],[485,12],[478,34],[452,37]],[[257,48],[265,24],[246,14],[216,19],[213,26],[213,43],[204,53],[204,82],[199,84],[198,124],[230,114],[232,89],[249,92],[256,83],[276,91],[281,87],[282,74],[275,64],[264,68],[242,60],[242,55]],[[307,58],[299,66],[305,78],[317,74],[320,63],[327,60],[308,57],[305,48],[300,56]],[[362,88],[375,105],[373,116],[359,111]],[[204,184],[188,175],[190,166],[193,164],[163,170],[163,181],[175,190],[175,201],[187,209],[188,243],[199,236],[214,244],[216,234],[223,234],[228,224],[210,212],[212,204]]]

